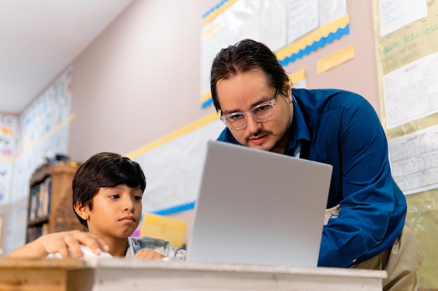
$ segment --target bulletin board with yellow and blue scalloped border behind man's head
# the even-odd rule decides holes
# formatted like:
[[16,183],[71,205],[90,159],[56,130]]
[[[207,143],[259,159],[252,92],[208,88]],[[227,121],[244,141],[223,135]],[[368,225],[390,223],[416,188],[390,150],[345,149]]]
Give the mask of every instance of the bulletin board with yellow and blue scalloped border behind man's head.
[[[209,74],[221,48],[252,38],[277,52],[288,73],[295,64],[350,34],[346,0],[239,0],[221,1],[204,15],[201,47],[201,108],[211,107]],[[332,54],[326,51],[325,57]],[[341,58],[339,64],[347,61]],[[350,57],[351,59],[351,57]],[[339,64],[325,63],[325,70]],[[316,62],[313,62],[316,68]],[[304,67],[304,78],[307,66]],[[313,70],[314,68],[311,68]],[[305,82],[305,80],[303,80]],[[318,84],[315,82],[315,87]]]

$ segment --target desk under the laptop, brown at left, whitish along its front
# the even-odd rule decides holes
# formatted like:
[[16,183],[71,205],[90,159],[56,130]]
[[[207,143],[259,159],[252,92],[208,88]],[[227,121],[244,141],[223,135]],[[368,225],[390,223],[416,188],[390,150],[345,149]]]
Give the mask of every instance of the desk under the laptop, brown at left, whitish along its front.
[[381,291],[385,271],[146,260],[0,260],[0,290]]

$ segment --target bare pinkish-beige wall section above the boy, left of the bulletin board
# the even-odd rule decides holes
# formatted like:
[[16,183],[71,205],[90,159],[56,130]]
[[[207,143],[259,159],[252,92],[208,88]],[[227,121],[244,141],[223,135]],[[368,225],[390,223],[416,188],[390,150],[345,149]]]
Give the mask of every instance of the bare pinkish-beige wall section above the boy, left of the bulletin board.
[[69,155],[129,151],[213,110],[200,110],[204,1],[134,1],[73,61]]

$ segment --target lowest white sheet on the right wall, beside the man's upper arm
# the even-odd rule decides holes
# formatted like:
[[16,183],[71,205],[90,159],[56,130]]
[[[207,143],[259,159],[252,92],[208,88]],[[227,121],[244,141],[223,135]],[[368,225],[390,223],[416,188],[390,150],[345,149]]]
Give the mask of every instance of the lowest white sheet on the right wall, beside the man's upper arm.
[[405,195],[438,188],[438,126],[388,141],[391,172]]

